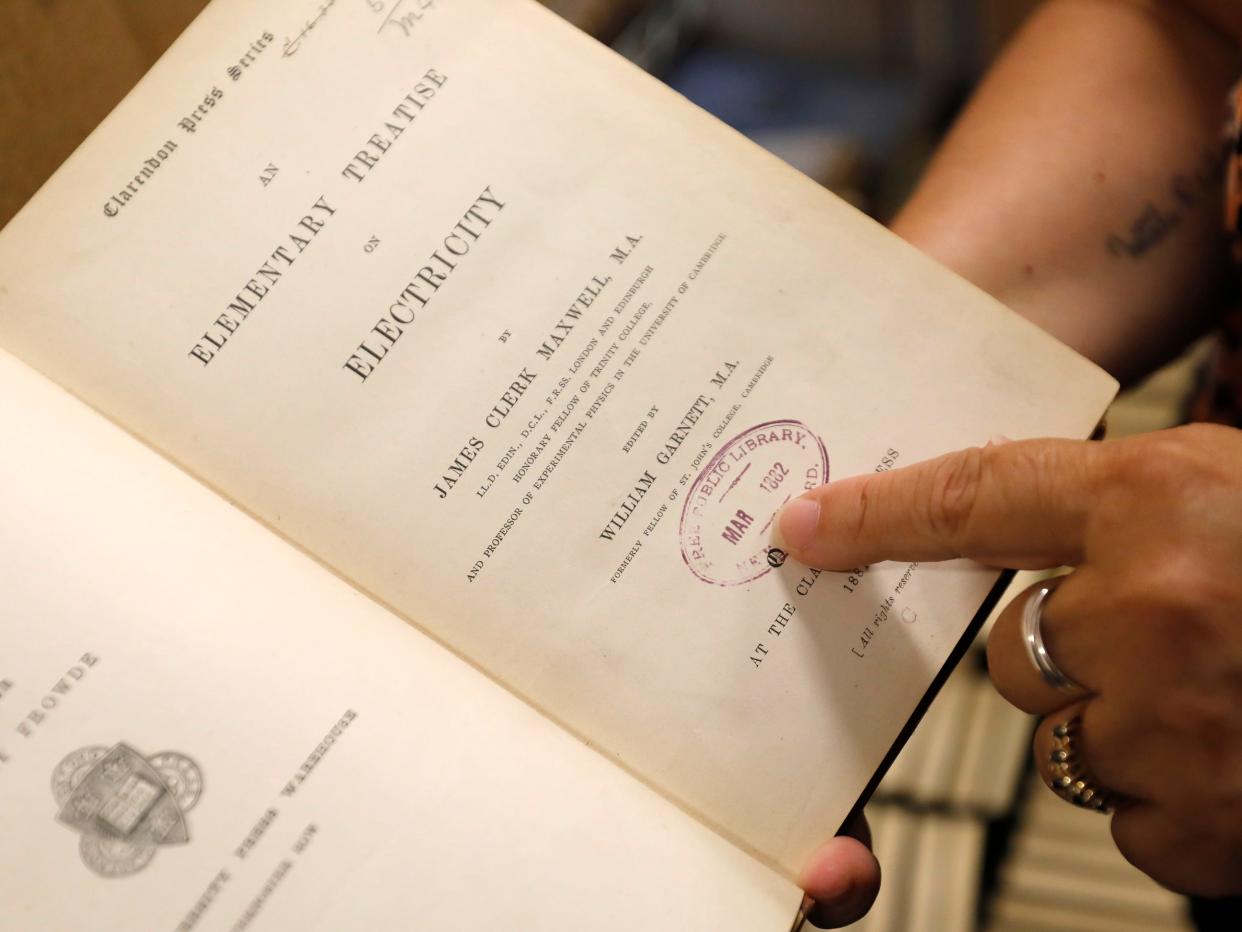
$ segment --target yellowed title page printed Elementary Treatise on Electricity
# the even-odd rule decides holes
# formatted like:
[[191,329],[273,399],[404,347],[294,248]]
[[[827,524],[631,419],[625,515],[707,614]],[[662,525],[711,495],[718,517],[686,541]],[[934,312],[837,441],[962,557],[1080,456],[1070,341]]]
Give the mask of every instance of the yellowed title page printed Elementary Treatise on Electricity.
[[0,236],[0,344],[791,874],[996,579],[771,521],[1104,374],[527,0],[217,0]]

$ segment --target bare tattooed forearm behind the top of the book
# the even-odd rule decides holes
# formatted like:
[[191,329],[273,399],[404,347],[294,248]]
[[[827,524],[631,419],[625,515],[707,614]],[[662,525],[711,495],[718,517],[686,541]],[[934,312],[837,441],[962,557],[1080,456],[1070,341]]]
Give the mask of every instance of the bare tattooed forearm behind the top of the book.
[[1048,2],[893,225],[1125,380],[1201,332],[1226,281],[1220,132],[1242,65],[1236,24],[1191,6]]

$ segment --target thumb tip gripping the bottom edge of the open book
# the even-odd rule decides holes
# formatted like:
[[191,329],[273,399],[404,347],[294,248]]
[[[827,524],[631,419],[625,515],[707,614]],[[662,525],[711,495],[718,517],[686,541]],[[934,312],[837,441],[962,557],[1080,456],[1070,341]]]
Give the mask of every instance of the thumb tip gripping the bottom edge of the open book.
[[817,928],[841,928],[857,922],[879,892],[879,862],[871,852],[871,829],[858,816],[845,834],[817,850],[799,885],[815,900],[807,918]]

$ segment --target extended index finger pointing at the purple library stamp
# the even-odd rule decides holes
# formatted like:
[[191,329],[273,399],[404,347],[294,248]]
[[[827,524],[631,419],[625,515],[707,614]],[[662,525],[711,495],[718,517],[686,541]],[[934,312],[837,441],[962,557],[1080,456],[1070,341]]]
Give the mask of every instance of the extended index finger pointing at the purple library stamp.
[[777,518],[799,560],[845,569],[969,557],[1017,569],[1082,560],[1098,444],[1027,440],[972,447],[832,482]]

